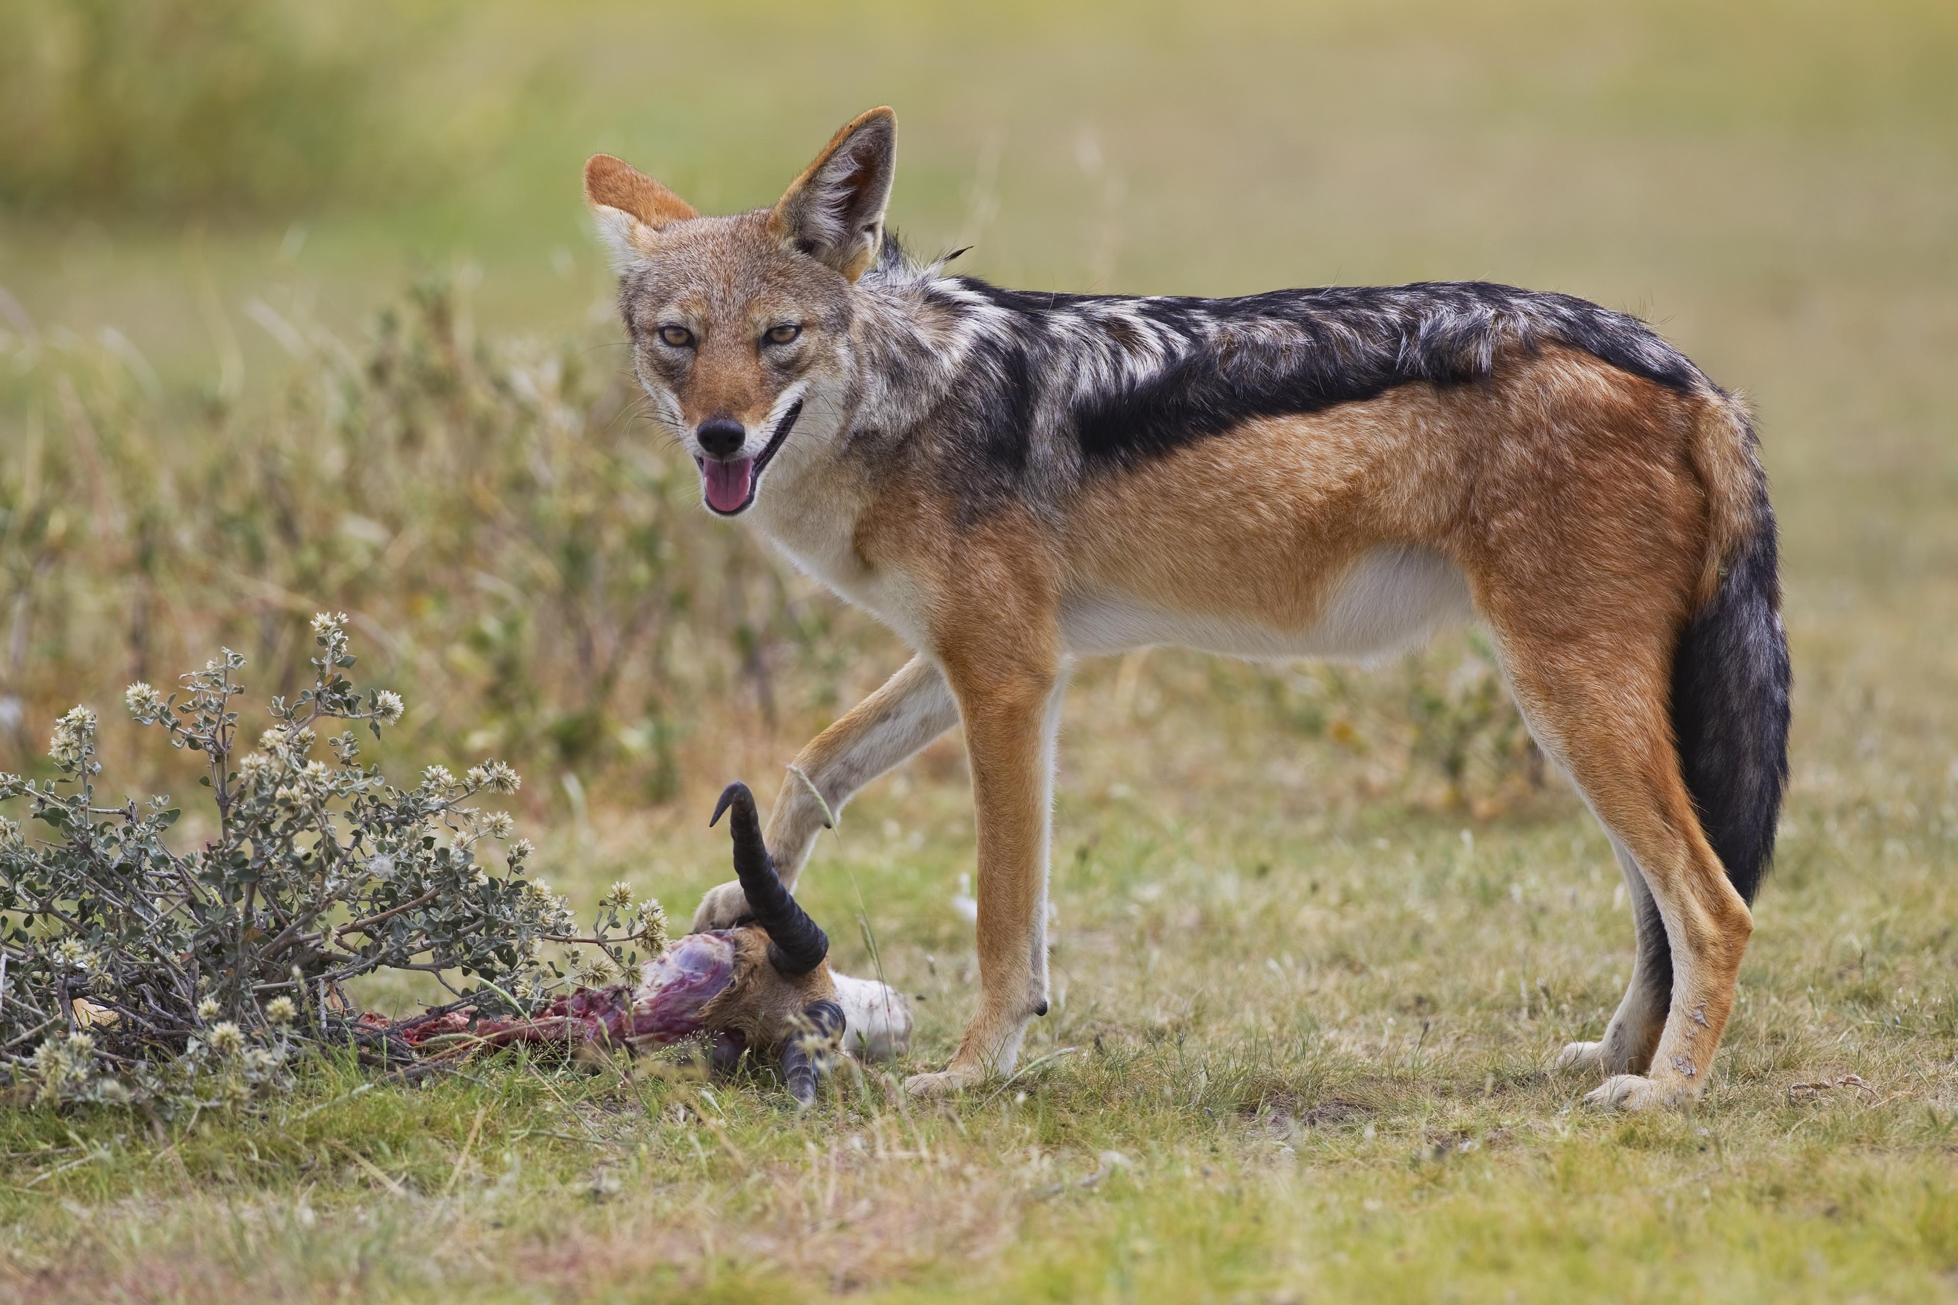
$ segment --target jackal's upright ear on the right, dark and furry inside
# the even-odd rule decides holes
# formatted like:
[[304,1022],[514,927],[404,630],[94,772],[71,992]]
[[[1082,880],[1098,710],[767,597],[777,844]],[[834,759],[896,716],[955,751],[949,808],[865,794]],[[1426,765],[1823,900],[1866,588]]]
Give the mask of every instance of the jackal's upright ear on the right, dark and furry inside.
[[838,131],[795,178],[769,229],[850,280],[883,247],[883,206],[897,170],[897,114],[875,108]]

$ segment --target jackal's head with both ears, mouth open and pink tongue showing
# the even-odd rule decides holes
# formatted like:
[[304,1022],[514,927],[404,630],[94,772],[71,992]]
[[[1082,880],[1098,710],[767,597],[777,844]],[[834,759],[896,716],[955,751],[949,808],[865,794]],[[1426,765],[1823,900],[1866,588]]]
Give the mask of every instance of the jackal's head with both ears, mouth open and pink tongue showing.
[[883,243],[895,147],[897,116],[871,110],[773,208],[734,218],[701,218],[611,155],[585,163],[632,366],[721,515],[748,509],[805,411],[834,429],[846,406],[852,288]]

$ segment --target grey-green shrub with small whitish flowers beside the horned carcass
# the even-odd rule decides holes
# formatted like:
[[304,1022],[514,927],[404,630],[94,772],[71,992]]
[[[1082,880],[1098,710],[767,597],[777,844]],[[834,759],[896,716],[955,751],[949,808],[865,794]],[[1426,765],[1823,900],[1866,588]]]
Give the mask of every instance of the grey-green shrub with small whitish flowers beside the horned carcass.
[[[16,1095],[237,1105],[282,1086],[305,1044],[405,1054],[349,999],[362,976],[425,972],[456,1005],[523,1011],[664,948],[660,903],[615,890],[580,937],[564,897],[525,874],[513,817],[480,805],[517,792],[505,762],[429,766],[409,788],[362,764],[358,727],[378,739],[403,701],[347,678],[345,617],[315,617],[313,645],[311,688],[274,698],[262,731],[235,709],[245,658],[229,649],[178,694],[129,686],[135,719],[206,762],[213,835],[198,848],[170,845],[168,798],[100,798],[88,707],[55,725],[55,778],[0,776],[0,798],[47,827],[29,841],[0,823],[0,1078]],[[566,974],[546,942],[589,950]]]

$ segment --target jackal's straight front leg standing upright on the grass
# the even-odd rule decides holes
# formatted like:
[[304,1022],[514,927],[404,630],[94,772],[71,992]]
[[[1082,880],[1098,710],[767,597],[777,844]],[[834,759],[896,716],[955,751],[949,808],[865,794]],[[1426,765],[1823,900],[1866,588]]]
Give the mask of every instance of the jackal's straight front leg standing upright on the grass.
[[959,1091],[1010,1074],[1026,1021],[1048,1013],[1048,813],[1059,668],[957,666],[948,678],[965,719],[979,825],[979,1009],[940,1074],[905,1089]]

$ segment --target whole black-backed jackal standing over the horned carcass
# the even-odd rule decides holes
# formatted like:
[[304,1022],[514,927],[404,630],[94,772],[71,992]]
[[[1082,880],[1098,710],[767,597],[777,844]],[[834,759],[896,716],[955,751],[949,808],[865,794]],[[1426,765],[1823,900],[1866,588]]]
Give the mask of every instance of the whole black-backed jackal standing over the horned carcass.
[[[916,656],[811,743],[768,848],[795,882],[877,774],[963,723],[979,1009],[920,1093],[1006,1072],[1048,1009],[1048,809],[1079,656],[1376,656],[1480,617],[1604,823],[1637,960],[1617,1107],[1700,1095],[1786,776],[1774,515],[1745,408],[1631,317],[1478,282],[1239,300],[1024,294],[883,231],[897,120],[781,202],[703,218],[619,159],[585,198],[652,413],[752,521]],[[701,903],[728,925],[738,884]]]

